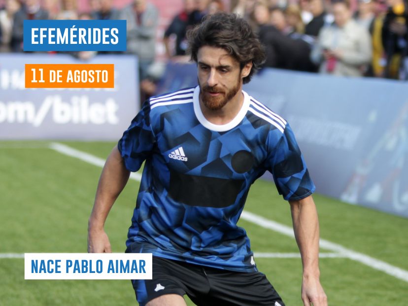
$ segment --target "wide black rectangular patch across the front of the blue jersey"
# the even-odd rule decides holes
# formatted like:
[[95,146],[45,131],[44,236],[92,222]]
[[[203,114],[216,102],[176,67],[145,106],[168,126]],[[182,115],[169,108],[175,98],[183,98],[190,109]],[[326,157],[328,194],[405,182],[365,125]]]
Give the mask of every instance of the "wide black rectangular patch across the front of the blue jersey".
[[235,203],[244,180],[197,176],[170,170],[170,197],[179,203],[227,207]]

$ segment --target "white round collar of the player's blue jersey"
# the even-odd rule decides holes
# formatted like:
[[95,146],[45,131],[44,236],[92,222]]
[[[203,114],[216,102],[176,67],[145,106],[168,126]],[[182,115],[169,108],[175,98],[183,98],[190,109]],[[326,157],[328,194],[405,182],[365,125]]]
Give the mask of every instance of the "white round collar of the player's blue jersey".
[[194,112],[196,114],[196,117],[200,123],[207,128],[208,130],[212,130],[215,132],[226,132],[231,129],[234,129],[245,117],[246,112],[248,111],[249,108],[249,96],[246,92],[242,90],[242,94],[244,95],[244,101],[242,103],[241,109],[239,110],[237,116],[230,122],[226,124],[213,124],[209,122],[207,119],[205,119],[203,112],[201,111],[200,107],[200,86],[197,86],[194,89],[194,95],[193,95],[193,104],[194,104]]

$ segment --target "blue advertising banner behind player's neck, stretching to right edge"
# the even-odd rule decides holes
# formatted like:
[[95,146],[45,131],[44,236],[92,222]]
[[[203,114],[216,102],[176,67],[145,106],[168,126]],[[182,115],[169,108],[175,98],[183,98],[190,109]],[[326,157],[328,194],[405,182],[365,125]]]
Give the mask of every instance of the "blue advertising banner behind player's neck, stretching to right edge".
[[[194,86],[196,65],[166,78]],[[289,122],[319,193],[408,217],[407,83],[264,69],[244,90]]]

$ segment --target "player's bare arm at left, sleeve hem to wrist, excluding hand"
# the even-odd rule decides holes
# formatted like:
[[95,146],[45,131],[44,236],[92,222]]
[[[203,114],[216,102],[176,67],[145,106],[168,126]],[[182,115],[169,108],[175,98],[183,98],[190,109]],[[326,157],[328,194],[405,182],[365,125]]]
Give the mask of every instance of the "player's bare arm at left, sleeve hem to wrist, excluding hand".
[[95,196],[94,207],[89,218],[89,230],[101,230],[107,215],[125,187],[130,171],[126,169],[122,156],[115,146],[103,167]]

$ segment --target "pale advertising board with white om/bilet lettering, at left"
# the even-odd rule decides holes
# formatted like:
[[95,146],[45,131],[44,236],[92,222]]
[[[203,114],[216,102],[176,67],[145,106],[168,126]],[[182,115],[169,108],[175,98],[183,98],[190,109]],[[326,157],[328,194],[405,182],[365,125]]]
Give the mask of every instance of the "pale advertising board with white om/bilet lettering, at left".
[[68,54],[0,54],[0,139],[114,140],[139,110],[137,59],[96,56],[114,64],[114,88],[25,88],[25,64],[81,64]]

